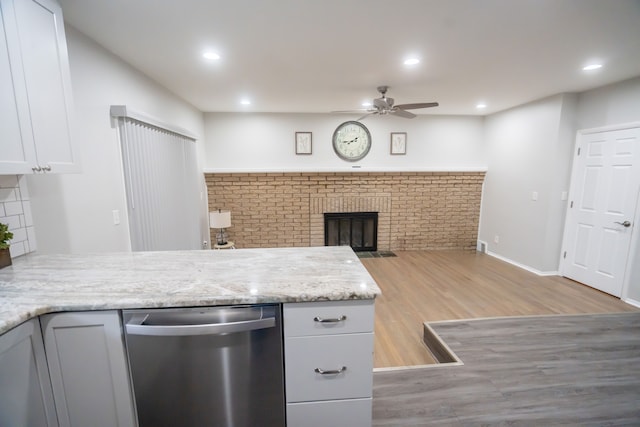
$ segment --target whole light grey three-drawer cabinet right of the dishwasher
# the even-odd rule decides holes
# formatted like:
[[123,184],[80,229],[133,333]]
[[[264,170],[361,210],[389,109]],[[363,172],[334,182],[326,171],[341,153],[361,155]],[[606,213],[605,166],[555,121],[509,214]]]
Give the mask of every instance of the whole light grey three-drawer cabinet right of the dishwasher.
[[285,304],[289,427],[370,427],[373,300]]

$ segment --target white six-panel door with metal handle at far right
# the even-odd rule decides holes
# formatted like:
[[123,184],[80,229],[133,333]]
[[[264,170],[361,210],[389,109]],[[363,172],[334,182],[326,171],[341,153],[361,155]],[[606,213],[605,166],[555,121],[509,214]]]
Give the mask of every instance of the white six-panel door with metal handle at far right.
[[640,189],[640,127],[577,137],[562,274],[620,297]]

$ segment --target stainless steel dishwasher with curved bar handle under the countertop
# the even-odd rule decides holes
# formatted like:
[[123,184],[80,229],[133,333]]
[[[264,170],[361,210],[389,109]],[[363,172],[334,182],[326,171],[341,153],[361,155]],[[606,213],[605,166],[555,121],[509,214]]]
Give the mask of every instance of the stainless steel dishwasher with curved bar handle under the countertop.
[[280,305],[123,316],[140,427],[285,425]]

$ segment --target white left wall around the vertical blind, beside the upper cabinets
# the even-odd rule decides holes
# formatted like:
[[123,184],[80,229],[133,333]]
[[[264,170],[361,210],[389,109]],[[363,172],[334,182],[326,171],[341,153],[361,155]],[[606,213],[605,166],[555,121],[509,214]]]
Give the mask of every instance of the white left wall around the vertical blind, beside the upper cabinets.
[[[202,113],[82,33],[66,31],[82,173],[28,176],[38,252],[127,251],[126,198],[110,105],[125,104],[195,135],[204,133]],[[113,210],[120,211],[120,225],[113,224]]]

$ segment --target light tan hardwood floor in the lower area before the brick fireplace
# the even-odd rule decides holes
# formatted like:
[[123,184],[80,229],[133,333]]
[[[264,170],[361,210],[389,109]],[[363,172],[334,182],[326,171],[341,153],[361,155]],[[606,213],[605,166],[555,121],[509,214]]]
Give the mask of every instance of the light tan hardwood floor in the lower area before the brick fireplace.
[[376,368],[434,363],[422,342],[426,321],[640,311],[588,286],[538,276],[485,254],[396,255],[362,259],[382,290],[376,299]]

